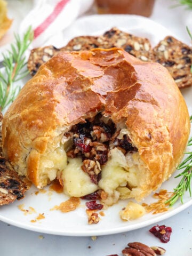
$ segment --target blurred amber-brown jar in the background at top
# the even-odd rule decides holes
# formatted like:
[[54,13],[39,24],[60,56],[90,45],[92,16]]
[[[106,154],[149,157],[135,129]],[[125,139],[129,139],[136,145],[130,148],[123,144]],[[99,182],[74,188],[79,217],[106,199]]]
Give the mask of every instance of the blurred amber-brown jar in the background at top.
[[95,0],[99,14],[137,14],[149,17],[155,0]]

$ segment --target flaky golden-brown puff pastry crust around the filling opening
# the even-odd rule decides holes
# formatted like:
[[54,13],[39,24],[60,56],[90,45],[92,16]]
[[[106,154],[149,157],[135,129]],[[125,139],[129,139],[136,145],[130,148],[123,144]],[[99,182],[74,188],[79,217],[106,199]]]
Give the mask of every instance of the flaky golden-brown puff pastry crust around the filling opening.
[[[138,149],[130,169],[126,158],[127,182],[137,182],[124,197],[139,201],[175,171],[190,122],[169,72],[122,49],[61,52],[42,65],[4,116],[4,156],[19,174],[44,187],[67,168],[63,134],[99,112],[117,127],[123,124]],[[103,179],[98,186],[107,191]],[[121,194],[119,186],[112,189]]]

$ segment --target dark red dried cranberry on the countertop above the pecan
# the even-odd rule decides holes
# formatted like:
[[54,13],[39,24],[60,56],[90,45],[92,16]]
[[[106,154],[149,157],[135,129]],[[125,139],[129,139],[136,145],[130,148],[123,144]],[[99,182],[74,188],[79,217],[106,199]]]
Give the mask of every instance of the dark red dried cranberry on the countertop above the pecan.
[[172,233],[171,227],[166,227],[165,225],[162,226],[154,226],[151,228],[150,233],[154,234],[154,236],[158,237],[162,243],[167,243],[170,241],[170,236]]

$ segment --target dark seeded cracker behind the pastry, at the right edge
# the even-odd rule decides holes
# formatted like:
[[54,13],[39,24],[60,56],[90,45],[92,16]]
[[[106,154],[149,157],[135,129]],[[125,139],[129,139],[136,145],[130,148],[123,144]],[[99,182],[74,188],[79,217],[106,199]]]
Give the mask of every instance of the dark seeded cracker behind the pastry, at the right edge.
[[172,36],[165,37],[153,49],[155,61],[167,68],[179,88],[192,85],[192,48]]

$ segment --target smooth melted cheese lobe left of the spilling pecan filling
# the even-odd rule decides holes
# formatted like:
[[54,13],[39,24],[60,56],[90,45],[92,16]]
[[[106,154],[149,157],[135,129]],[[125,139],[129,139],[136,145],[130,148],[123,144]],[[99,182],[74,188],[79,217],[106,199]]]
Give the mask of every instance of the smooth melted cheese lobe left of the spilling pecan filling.
[[81,158],[68,158],[68,165],[62,171],[64,193],[69,196],[81,197],[93,193],[98,189],[89,175],[85,173]]

